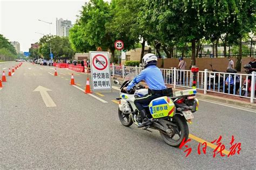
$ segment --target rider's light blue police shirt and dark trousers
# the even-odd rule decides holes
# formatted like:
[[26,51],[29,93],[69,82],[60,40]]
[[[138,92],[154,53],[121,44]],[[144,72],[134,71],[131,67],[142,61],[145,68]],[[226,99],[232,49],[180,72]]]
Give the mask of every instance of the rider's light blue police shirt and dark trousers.
[[157,66],[148,66],[142,70],[142,72],[140,72],[140,74],[129,83],[127,90],[130,90],[142,80],[145,80],[147,86],[149,86],[149,91],[154,91],[154,93],[138,97],[134,100],[134,104],[136,105],[138,111],[144,109],[143,104],[149,104],[155,98],[163,96],[162,90],[166,89],[164,77],[161,74],[161,70]]

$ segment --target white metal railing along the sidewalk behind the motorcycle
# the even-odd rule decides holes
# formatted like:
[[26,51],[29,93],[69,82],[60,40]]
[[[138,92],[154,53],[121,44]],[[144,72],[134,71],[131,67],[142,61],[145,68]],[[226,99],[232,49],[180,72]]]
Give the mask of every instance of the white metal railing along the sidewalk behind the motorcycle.
[[[130,66],[110,66],[111,75],[125,77],[129,73],[139,74],[143,67]],[[180,69],[160,69],[164,82],[166,84],[176,87],[192,87],[192,72],[191,70]],[[251,99],[254,103],[255,98],[255,76],[256,72],[252,74],[238,74],[238,73],[224,73],[211,72],[205,69],[197,73],[197,89],[214,93],[223,93],[233,96],[246,97]],[[205,85],[206,84],[206,85]],[[253,90],[254,89],[254,90]]]

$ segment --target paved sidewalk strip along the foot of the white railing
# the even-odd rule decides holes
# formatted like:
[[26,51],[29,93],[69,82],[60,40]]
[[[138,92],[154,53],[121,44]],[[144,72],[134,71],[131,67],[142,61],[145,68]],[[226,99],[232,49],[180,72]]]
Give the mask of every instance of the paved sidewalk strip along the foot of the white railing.
[[[122,79],[120,77],[117,77],[117,78],[118,80],[123,81],[123,78]],[[142,84],[146,86],[145,82],[142,82]],[[173,86],[170,84],[165,84],[165,85],[166,87],[173,88]],[[186,90],[186,89],[188,88],[178,87],[175,89],[173,88],[173,91],[180,91],[180,90]],[[237,105],[239,107],[244,107],[244,108],[256,109],[256,103],[250,103],[250,98],[232,96],[232,95],[227,95],[222,93],[214,93],[211,91],[207,91],[207,94],[204,94],[204,91],[199,89],[197,89],[197,97],[202,100],[205,99],[205,100],[210,100],[215,102]]]

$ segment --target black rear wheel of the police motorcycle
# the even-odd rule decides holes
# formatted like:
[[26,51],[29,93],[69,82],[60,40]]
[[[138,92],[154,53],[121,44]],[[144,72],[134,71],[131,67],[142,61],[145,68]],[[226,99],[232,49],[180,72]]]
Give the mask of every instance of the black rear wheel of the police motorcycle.
[[181,141],[185,138],[185,141],[188,139],[188,126],[184,116],[175,115],[172,117],[172,123],[177,126],[166,124],[169,127],[169,131],[162,132],[160,131],[161,137],[164,141],[174,147],[178,147],[181,144]]

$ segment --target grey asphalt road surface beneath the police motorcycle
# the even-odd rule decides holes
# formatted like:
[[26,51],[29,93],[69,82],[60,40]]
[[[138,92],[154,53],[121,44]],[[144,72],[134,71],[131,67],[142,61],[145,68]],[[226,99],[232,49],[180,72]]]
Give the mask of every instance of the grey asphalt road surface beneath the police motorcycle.
[[[0,71],[15,62],[0,63]],[[192,152],[167,145],[158,131],[148,132],[123,126],[114,100],[119,91],[83,93],[86,74],[23,62],[0,89],[0,169],[10,168],[87,168],[87,169],[255,169],[256,112],[200,101],[194,113],[192,134],[187,143]],[[70,86],[75,73],[77,87]],[[47,91],[56,107],[46,107],[38,86]],[[80,88],[80,89],[79,89]],[[107,103],[103,103],[102,100]],[[199,141],[222,136],[230,151],[230,141],[241,143],[240,154],[213,158]],[[198,139],[199,138],[199,139]],[[216,144],[215,144],[216,145]],[[214,146],[215,146],[214,145]],[[217,152],[216,152],[217,153]]]

